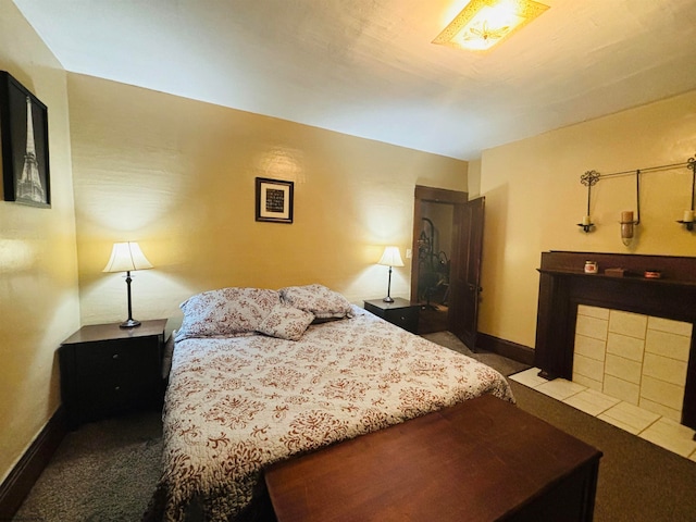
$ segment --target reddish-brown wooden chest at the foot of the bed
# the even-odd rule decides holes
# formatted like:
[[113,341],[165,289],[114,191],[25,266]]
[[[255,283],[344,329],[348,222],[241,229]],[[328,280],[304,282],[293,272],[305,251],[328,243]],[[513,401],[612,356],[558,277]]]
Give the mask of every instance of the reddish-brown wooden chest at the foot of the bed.
[[591,521],[601,452],[493,396],[265,473],[278,522]]

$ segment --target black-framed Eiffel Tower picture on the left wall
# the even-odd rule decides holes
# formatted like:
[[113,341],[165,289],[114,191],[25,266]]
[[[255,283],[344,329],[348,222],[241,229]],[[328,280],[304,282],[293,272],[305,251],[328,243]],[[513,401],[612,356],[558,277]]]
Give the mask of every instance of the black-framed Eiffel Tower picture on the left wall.
[[48,108],[7,71],[0,71],[0,142],[4,200],[50,208]]

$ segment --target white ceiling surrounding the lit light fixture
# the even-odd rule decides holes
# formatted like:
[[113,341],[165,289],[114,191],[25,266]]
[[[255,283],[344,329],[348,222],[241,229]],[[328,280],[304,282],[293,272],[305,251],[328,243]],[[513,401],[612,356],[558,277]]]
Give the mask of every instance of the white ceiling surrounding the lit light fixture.
[[65,70],[464,160],[696,89],[695,0],[542,0],[488,53],[467,0],[14,0]]

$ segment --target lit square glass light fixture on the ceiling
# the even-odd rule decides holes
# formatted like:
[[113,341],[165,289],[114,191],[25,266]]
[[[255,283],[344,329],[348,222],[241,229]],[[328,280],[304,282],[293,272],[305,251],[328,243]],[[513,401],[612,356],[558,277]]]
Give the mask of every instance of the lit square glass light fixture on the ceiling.
[[547,9],[532,0],[471,0],[433,44],[486,51]]

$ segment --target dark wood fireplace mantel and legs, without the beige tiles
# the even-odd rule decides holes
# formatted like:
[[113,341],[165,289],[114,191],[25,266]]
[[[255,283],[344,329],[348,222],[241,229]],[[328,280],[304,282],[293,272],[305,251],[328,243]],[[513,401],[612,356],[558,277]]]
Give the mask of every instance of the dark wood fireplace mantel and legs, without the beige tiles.
[[[584,273],[596,261],[596,274]],[[622,277],[605,270],[621,268]],[[692,323],[682,424],[696,428],[696,258],[598,252],[542,252],[534,364],[546,378],[572,380],[577,306]],[[643,276],[659,271],[659,279]]]

